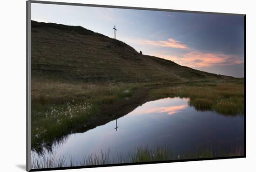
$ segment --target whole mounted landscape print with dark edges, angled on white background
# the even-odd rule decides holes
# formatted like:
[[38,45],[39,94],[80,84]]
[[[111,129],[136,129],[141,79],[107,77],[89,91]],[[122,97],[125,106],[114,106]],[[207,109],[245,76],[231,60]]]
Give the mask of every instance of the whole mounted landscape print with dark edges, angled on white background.
[[245,158],[245,17],[27,1],[27,171]]

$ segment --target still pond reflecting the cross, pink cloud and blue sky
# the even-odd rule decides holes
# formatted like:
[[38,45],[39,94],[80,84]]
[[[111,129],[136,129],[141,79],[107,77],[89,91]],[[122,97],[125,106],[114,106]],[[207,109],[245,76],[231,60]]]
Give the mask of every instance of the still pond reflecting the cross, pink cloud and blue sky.
[[[81,162],[85,156],[100,155],[101,150],[108,152],[109,149],[110,159],[115,158],[117,152],[125,157],[140,146],[149,149],[168,146],[174,154],[205,147],[221,147],[225,152],[243,148],[243,115],[198,111],[189,106],[188,101],[185,98],[149,101],[105,125],[68,135],[61,144],[52,147],[52,152],[45,151],[44,157],[65,156],[67,161],[72,157],[75,162]],[[41,157],[33,152],[34,159]]]

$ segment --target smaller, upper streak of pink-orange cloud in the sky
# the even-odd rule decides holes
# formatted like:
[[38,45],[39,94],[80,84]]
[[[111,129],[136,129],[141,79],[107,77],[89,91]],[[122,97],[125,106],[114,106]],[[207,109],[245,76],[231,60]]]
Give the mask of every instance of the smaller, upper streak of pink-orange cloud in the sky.
[[163,47],[172,47],[172,48],[188,48],[187,45],[182,44],[180,41],[169,38],[167,41],[165,40],[141,40],[144,44],[154,45],[154,46],[163,46]]

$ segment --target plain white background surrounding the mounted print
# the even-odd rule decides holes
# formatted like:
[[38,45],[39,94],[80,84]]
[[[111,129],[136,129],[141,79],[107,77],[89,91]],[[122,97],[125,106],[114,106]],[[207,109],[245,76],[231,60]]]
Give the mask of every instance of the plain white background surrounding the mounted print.
[[[55,1],[55,0],[52,0]],[[244,13],[246,25],[247,158],[153,165],[68,170],[72,172],[255,171],[256,163],[256,10],[253,0],[59,0],[87,4],[177,10]],[[26,0],[3,0],[0,5],[0,171],[26,167]]]

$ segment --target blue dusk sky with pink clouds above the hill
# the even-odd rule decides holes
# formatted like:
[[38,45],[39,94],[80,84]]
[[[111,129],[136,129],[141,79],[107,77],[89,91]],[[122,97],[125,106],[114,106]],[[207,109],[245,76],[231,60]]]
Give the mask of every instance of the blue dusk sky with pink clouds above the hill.
[[243,15],[31,5],[31,19],[82,26],[143,54],[194,69],[244,77]]

